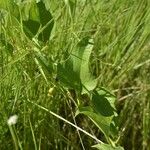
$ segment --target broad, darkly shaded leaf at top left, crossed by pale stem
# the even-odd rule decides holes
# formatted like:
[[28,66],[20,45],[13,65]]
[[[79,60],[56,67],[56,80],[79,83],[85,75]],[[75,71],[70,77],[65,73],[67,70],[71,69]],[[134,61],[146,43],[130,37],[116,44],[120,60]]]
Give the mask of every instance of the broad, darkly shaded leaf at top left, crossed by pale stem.
[[46,9],[45,4],[42,1],[36,3],[35,0],[26,2],[22,12],[24,16],[23,25],[26,35],[29,38],[33,38],[37,35],[40,41],[48,41],[54,21],[51,13]]

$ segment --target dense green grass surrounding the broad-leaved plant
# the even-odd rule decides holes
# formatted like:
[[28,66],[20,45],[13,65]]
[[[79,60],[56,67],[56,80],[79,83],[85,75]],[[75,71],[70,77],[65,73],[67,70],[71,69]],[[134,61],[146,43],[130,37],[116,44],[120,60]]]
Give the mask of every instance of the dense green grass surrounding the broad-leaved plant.
[[126,150],[149,150],[150,1],[45,0],[38,5],[40,21],[21,4],[0,1],[0,149],[14,148],[7,125],[13,114],[19,117],[14,132],[20,149],[79,150],[96,144],[49,111],[104,140],[87,117],[74,117],[76,103],[90,100],[78,99],[74,91],[70,95],[57,79],[57,63],[66,61],[81,40],[92,38],[89,66],[99,78],[97,87],[117,97],[118,143]]

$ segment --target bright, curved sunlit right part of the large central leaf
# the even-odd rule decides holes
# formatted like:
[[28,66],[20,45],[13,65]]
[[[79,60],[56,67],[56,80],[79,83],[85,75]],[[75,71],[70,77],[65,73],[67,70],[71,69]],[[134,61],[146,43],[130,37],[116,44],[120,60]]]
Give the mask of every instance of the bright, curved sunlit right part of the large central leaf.
[[82,83],[82,94],[88,93],[95,89],[97,79],[94,79],[89,69],[90,55],[93,49],[93,44],[89,41],[89,37],[83,38],[72,52],[74,71],[80,76]]

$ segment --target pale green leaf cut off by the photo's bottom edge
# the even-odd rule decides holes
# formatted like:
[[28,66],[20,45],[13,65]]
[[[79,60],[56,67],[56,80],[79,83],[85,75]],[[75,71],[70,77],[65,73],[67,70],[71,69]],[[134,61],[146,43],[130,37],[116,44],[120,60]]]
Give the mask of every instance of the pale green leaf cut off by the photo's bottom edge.
[[97,148],[98,150],[124,150],[123,147],[121,146],[118,146],[118,147],[112,147],[111,145],[109,144],[97,144],[97,145],[94,145],[92,146],[94,148]]

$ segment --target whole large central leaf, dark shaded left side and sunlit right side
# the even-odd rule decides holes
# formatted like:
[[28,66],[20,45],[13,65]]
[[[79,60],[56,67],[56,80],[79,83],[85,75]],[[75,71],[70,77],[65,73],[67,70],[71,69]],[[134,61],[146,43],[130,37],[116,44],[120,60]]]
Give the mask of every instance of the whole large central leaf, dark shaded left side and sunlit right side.
[[[89,70],[90,55],[93,49],[89,38],[82,39],[65,61],[64,67],[58,65],[58,78],[69,87],[79,90],[82,94],[95,89],[97,79],[94,79]],[[81,91],[82,87],[82,91]]]

